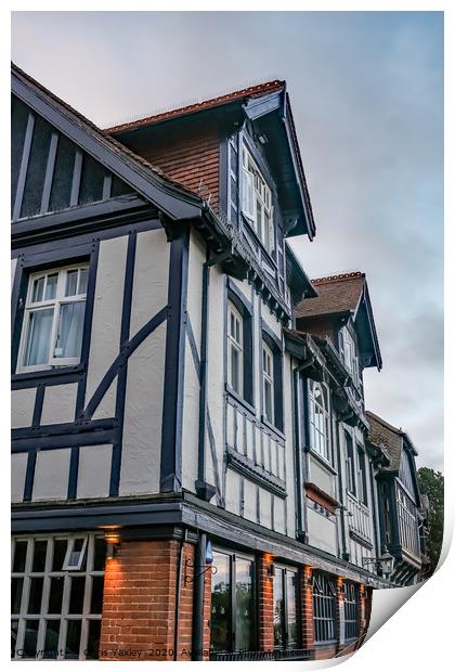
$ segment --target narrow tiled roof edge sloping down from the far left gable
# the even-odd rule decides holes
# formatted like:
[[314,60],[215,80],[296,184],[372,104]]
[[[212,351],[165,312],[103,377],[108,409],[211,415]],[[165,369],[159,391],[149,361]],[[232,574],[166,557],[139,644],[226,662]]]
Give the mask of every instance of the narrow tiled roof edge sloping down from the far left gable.
[[22,70],[14,63],[11,64],[11,69],[12,69],[12,73],[16,75],[16,77],[18,77],[22,80],[25,80],[27,82],[27,86],[30,86],[37,89],[40,93],[43,93],[47,98],[51,99],[57,107],[61,107],[62,109],[68,112],[74,117],[74,119],[79,124],[79,126],[84,127],[88,131],[90,131],[91,134],[96,137],[96,139],[102,144],[108,145],[117,154],[121,154],[123,158],[126,158],[127,160],[135,164],[142,169],[145,169],[145,171],[148,171],[151,176],[153,176],[154,178],[158,177],[160,180],[164,180],[165,182],[168,182],[169,184],[179,188],[179,190],[183,190],[186,194],[191,194],[192,196],[197,197],[197,194],[188,190],[181,182],[178,182],[177,180],[172,180],[171,178],[169,178],[169,176],[167,176],[160,168],[158,168],[157,166],[153,166],[142,156],[134,154],[134,152],[126,147],[118,140],[115,140],[115,138],[105,135],[103,131],[95,124],[93,124],[93,121],[91,121],[90,119],[84,117],[82,114],[80,114],[80,112],[78,112],[77,109],[68,105],[68,103],[66,103],[65,101],[56,96],[54,93],[52,93],[52,91],[43,87],[39,81],[30,77],[30,75]]

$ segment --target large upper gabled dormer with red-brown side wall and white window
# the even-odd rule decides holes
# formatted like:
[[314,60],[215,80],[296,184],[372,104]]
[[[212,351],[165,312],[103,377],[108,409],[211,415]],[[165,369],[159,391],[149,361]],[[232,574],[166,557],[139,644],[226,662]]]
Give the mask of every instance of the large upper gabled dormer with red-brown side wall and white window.
[[285,238],[315,234],[286,82],[242,89],[105,134],[200,195],[284,299]]

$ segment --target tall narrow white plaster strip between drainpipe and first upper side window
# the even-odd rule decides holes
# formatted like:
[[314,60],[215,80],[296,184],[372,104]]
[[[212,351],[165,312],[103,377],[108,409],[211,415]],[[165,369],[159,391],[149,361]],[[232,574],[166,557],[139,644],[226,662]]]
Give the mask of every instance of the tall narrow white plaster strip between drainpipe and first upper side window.
[[[209,337],[208,337],[208,378],[207,378],[207,399],[213,429],[216,452],[218,460],[218,470],[223,471],[224,455],[224,290],[225,275],[217,267],[210,270],[209,287]],[[206,440],[206,478],[210,483],[214,483],[214,473],[212,457],[208,438]]]

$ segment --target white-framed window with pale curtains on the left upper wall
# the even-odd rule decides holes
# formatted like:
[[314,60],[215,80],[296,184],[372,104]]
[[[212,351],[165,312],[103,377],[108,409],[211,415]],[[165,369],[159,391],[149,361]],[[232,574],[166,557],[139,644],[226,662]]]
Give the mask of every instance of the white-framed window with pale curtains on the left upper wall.
[[79,363],[88,280],[87,263],[30,274],[18,372]]

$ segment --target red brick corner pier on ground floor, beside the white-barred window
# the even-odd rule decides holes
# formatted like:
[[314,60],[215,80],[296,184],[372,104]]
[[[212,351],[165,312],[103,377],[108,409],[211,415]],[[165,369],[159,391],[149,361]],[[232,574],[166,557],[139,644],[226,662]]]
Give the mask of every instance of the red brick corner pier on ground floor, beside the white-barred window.
[[[106,561],[101,629],[101,659],[172,660],[174,657],[176,591],[180,542],[122,542]],[[191,660],[193,581],[184,584],[185,559],[194,546],[183,545],[178,659]],[[134,650],[134,652],[133,652]]]

